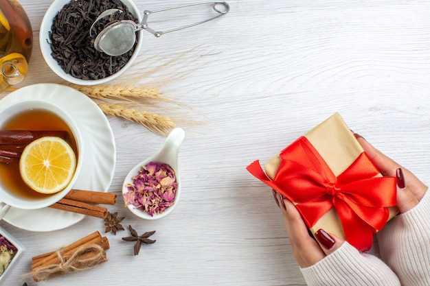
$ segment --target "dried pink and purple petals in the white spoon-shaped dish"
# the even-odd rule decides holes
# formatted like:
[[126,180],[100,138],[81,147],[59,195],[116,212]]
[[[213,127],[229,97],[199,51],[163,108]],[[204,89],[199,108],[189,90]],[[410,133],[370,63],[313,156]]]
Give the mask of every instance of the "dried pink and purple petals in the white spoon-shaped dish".
[[152,216],[163,213],[174,203],[178,184],[176,174],[169,165],[150,162],[139,170],[133,180],[133,184],[126,185],[126,204],[132,204]]

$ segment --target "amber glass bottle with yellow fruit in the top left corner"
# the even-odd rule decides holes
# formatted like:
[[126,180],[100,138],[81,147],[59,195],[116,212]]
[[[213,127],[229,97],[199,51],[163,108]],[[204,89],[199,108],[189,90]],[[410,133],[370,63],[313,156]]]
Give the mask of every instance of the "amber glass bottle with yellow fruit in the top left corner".
[[25,78],[32,49],[27,13],[16,0],[0,0],[0,93]]

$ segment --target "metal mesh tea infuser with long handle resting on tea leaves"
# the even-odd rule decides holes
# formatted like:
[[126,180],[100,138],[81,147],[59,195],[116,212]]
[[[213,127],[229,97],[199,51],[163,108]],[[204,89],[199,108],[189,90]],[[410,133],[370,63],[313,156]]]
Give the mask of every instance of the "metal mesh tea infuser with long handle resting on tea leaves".
[[[216,16],[213,16],[210,19],[205,19],[203,21],[192,23],[190,25],[184,25],[182,27],[177,27],[174,29],[169,29],[164,32],[158,32],[154,29],[151,29],[148,27],[148,17],[150,14],[154,14],[157,12],[163,12],[167,10],[174,10],[179,8],[185,8],[195,5],[207,5],[211,4],[212,9],[218,13]],[[135,22],[131,20],[122,20],[117,21],[116,23],[113,23],[111,25],[108,25],[105,27],[100,34],[95,38],[94,40],[94,48],[98,51],[103,51],[104,53],[108,54],[109,56],[120,56],[123,53],[126,53],[127,51],[130,51],[130,49],[135,45],[136,42],[136,32],[140,31],[142,29],[146,29],[146,31],[150,32],[157,38],[160,37],[163,34],[167,34],[170,32],[178,31],[180,29],[185,29],[188,27],[192,27],[195,25],[199,25],[201,23],[205,23],[207,21],[211,21],[213,19],[216,19],[220,16],[223,16],[224,14],[227,14],[229,12],[230,6],[225,1],[217,1],[217,2],[201,2],[201,3],[193,3],[193,4],[187,4],[187,5],[180,5],[176,7],[171,8],[165,8],[161,10],[154,10],[154,11],[144,11],[144,19],[142,20],[142,23],[136,24]],[[98,18],[94,21],[93,25],[90,29],[90,34],[92,32],[93,26],[95,23],[97,23],[100,19],[102,19],[104,16],[108,16],[110,14],[113,14],[117,11],[122,12],[118,9],[109,9],[104,11]]]

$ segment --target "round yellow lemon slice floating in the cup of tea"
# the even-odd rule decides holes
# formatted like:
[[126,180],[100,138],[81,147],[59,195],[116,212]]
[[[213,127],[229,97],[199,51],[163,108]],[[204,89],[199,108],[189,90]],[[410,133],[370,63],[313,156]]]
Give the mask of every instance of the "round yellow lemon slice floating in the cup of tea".
[[67,187],[76,169],[76,155],[69,143],[45,136],[27,145],[19,160],[21,177],[38,193],[57,193]]

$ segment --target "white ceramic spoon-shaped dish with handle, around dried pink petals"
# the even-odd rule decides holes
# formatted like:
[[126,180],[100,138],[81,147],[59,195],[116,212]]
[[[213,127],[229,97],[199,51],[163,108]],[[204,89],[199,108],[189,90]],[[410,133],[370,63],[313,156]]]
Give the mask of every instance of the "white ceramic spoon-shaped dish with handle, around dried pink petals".
[[[157,152],[157,154],[150,156],[149,158],[146,158],[141,163],[135,165],[133,169],[131,169],[125,180],[124,184],[122,184],[122,195],[124,196],[128,192],[127,185],[128,184],[134,184],[133,176],[136,176],[139,174],[139,170],[142,169],[142,167],[150,162],[158,162],[158,163],[164,163],[172,167],[174,174],[176,175],[176,182],[178,185],[177,191],[174,195],[174,203],[172,206],[169,206],[166,208],[163,213],[155,213],[153,216],[149,215],[145,211],[140,210],[136,206],[133,206],[133,204],[127,204],[128,209],[137,215],[138,217],[142,217],[143,219],[159,219],[161,217],[165,217],[169,213],[173,211],[174,206],[176,206],[179,202],[179,197],[181,196],[181,174],[178,164],[178,154],[179,154],[179,147],[181,146],[181,143],[185,137],[185,132],[181,128],[174,128],[172,132],[170,132],[168,138],[164,142],[163,146]],[[124,198],[125,202],[125,198]]]

